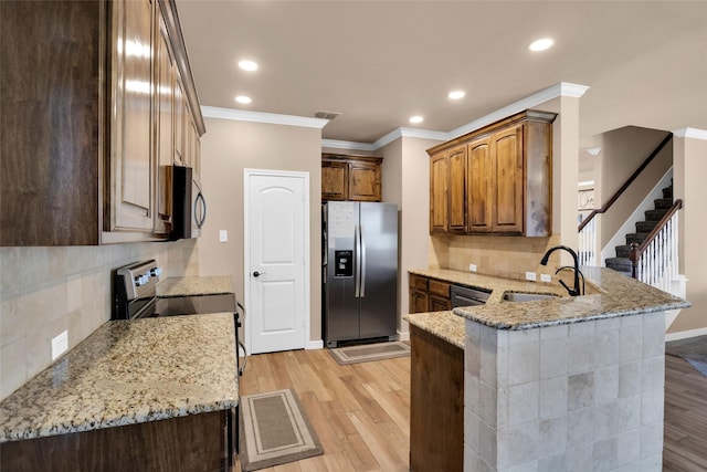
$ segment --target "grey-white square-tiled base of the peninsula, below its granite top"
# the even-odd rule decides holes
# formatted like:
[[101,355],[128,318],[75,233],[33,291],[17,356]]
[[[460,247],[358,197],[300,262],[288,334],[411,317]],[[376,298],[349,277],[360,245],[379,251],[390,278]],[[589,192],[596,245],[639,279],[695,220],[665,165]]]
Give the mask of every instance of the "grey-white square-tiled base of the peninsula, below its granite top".
[[661,471],[665,313],[466,319],[465,471]]

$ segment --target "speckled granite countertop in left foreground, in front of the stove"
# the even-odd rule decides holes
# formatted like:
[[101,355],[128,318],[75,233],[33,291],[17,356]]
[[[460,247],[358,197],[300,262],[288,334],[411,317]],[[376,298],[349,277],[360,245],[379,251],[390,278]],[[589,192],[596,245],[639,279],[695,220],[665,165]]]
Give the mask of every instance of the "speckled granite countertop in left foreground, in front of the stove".
[[0,402],[0,442],[239,403],[232,314],[106,322]]

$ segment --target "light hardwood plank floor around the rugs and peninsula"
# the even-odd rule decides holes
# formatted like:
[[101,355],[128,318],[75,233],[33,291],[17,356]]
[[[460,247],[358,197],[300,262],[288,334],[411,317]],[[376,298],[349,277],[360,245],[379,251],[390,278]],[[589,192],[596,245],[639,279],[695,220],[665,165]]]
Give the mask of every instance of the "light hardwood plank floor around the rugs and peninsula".
[[[665,367],[663,469],[707,471],[707,378],[677,357]],[[249,358],[242,395],[283,388],[297,392],[325,453],[265,472],[408,470],[409,357],[345,367],[325,349]]]

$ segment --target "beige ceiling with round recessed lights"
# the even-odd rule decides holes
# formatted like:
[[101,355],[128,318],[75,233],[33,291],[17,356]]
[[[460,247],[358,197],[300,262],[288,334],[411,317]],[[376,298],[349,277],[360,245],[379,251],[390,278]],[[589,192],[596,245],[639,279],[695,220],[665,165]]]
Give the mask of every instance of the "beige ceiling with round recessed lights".
[[[582,145],[627,125],[707,129],[707,1],[177,0],[201,105],[314,117],[370,144],[451,132],[560,82]],[[555,39],[548,51],[528,44]],[[238,67],[241,59],[260,64]],[[463,90],[451,101],[446,94]],[[236,95],[252,98],[249,105]],[[411,125],[408,118],[422,115]]]

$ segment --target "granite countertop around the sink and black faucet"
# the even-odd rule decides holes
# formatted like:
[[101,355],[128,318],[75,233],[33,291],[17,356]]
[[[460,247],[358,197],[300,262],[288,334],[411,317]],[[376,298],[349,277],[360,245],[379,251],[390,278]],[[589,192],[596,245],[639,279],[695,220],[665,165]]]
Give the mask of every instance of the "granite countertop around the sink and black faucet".
[[[559,285],[515,281],[461,271],[431,269],[410,271],[410,273],[492,290],[486,305],[437,312],[442,315],[435,313],[434,318],[467,318],[498,329],[530,329],[690,306],[689,302],[619,274],[611,269],[583,266],[581,271],[587,277],[587,292],[589,293],[581,296],[566,296],[567,291]],[[531,302],[505,302],[503,301],[505,292],[529,292],[561,296]],[[433,323],[422,321],[425,315],[405,315],[404,319],[425,329],[425,325]],[[445,324],[449,326],[449,331],[440,334],[440,328]],[[456,339],[454,344],[458,345],[458,339],[455,338],[457,332],[455,322],[446,319],[442,323],[437,319],[434,322],[434,326],[436,333],[429,326],[426,329],[443,338],[454,338]]]

